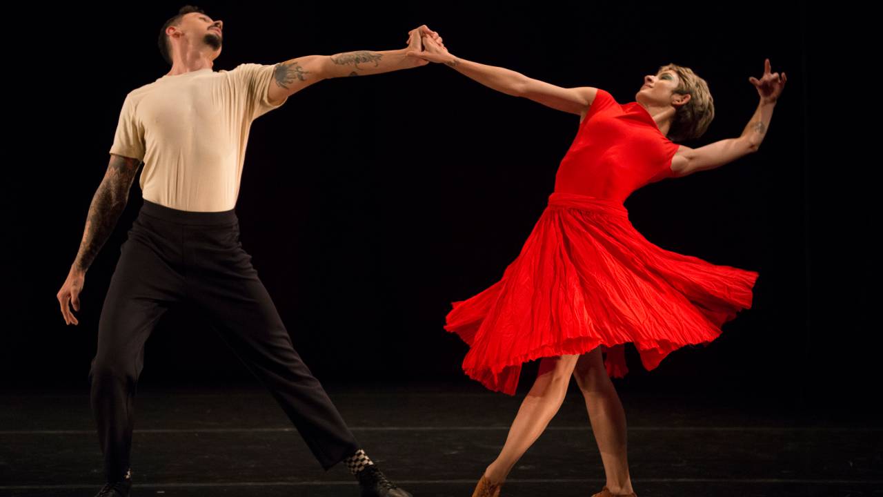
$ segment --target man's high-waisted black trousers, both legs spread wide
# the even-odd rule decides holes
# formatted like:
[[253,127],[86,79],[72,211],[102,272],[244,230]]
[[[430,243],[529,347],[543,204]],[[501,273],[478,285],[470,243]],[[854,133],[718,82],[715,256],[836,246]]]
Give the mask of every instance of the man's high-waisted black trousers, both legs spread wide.
[[[134,396],[144,343],[166,310],[194,306],[267,386],[324,470],[358,441],[291,338],[239,242],[234,210],[192,212],[147,200],[120,249],[89,371],[109,481],[130,467]],[[268,455],[272,456],[272,455]]]

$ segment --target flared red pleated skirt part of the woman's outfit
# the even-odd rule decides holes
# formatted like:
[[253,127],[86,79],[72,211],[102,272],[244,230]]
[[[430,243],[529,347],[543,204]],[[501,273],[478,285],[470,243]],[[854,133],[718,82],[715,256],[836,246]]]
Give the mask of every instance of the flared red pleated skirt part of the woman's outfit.
[[707,344],[751,309],[757,279],[653,245],[621,203],[554,193],[502,279],[451,302],[445,330],[470,346],[464,372],[505,394],[523,363],[598,346],[608,375],[622,378],[624,344],[648,371],[677,348]]

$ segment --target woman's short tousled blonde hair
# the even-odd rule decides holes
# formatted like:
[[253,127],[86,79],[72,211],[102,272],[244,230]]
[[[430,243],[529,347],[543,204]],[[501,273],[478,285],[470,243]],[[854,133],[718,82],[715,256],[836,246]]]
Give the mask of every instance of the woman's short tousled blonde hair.
[[708,90],[708,83],[693,73],[691,68],[682,65],[663,65],[657,74],[662,71],[677,73],[681,82],[675,93],[690,95],[690,102],[684,103],[675,112],[675,118],[668,127],[668,140],[694,140],[702,136],[714,119],[714,99]]

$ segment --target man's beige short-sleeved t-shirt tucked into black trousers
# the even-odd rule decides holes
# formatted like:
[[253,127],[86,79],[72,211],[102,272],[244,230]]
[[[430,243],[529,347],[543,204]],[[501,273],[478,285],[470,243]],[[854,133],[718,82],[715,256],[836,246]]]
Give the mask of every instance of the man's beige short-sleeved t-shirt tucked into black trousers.
[[162,76],[125,96],[110,153],[144,162],[145,199],[178,210],[231,210],[252,121],[268,102],[275,65]]

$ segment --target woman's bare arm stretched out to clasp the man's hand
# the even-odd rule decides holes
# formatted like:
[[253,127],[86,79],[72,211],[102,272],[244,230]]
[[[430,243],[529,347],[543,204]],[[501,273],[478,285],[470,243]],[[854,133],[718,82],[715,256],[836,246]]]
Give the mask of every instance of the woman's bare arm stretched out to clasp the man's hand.
[[585,115],[598,91],[598,88],[592,87],[562,88],[545,81],[528,78],[522,73],[505,67],[484,65],[454,57],[441,42],[436,42],[432,37],[424,36],[423,49],[419,52],[411,51],[408,55],[448,65],[458,73],[478,81],[487,88],[494,88],[506,95],[522,96],[557,111]]

